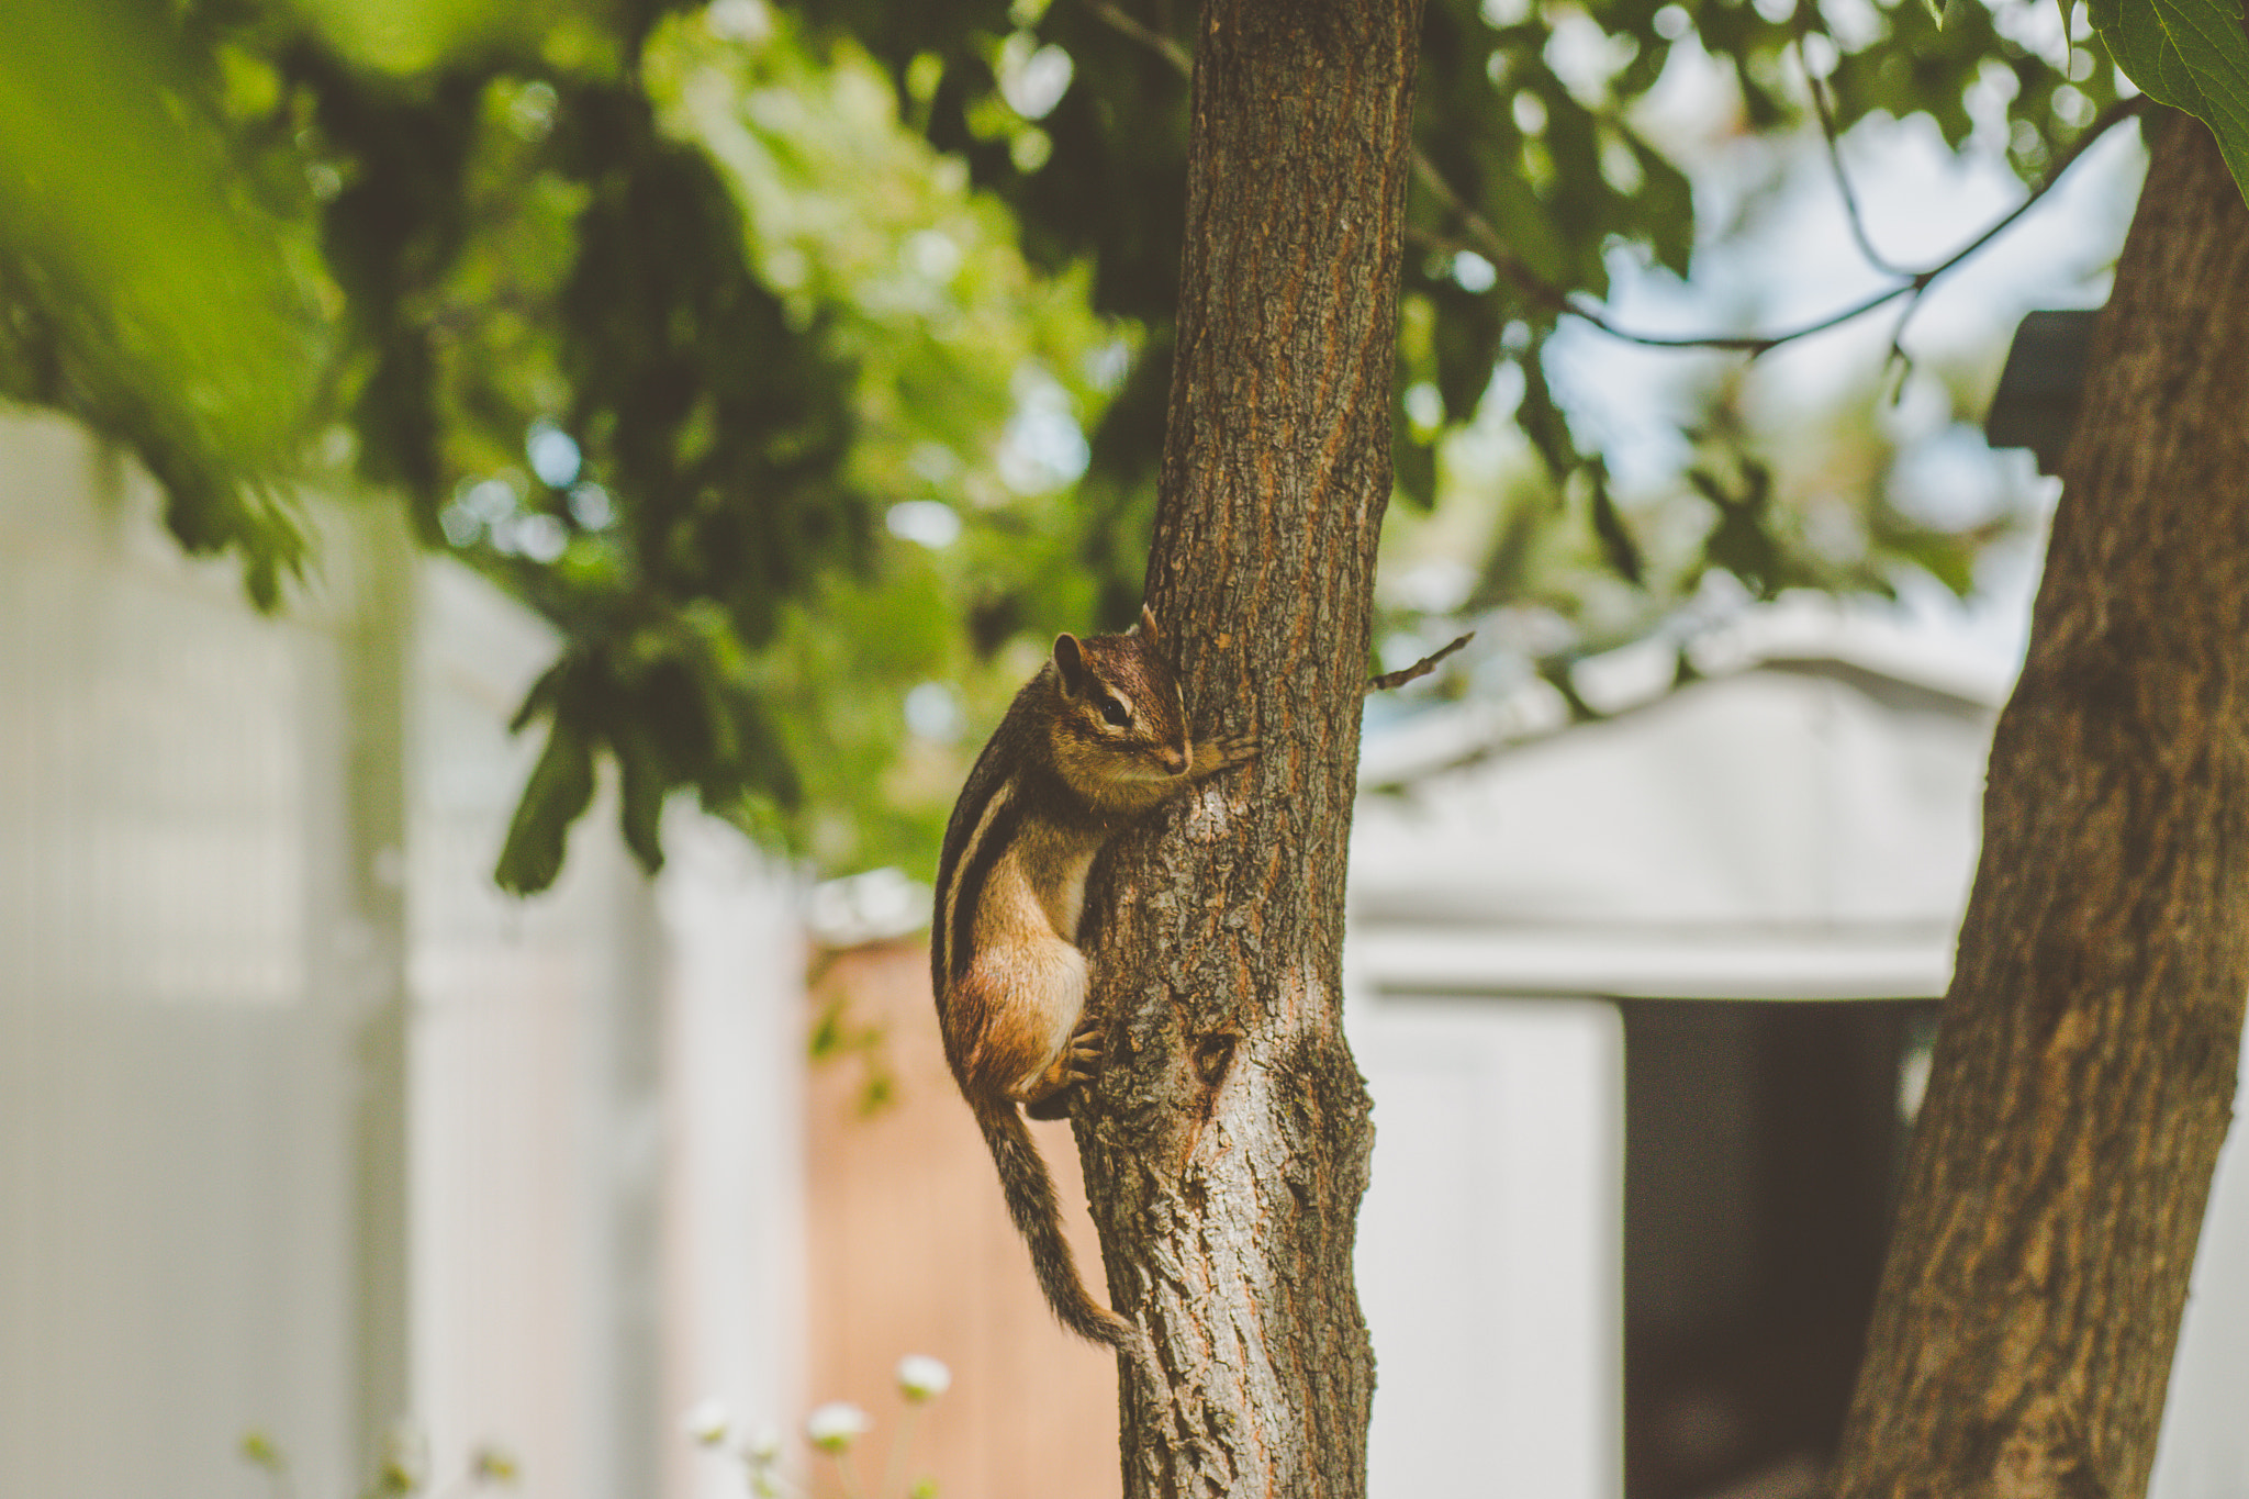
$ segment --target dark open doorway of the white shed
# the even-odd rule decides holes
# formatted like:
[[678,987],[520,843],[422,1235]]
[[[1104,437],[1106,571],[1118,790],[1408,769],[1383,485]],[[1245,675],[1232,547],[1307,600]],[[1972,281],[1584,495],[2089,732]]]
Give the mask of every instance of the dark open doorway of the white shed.
[[1795,1499],[1842,1429],[1934,1002],[1631,1000],[1628,1499]]

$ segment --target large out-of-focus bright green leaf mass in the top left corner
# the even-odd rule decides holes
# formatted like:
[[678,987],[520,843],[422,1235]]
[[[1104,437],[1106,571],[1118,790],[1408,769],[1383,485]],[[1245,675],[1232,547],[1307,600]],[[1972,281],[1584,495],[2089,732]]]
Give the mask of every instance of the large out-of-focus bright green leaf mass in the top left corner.
[[[202,16],[31,4],[0,36],[0,396],[137,449],[191,551],[252,593],[304,555],[281,485],[322,328],[306,236],[227,115]],[[301,198],[301,189],[297,198]]]

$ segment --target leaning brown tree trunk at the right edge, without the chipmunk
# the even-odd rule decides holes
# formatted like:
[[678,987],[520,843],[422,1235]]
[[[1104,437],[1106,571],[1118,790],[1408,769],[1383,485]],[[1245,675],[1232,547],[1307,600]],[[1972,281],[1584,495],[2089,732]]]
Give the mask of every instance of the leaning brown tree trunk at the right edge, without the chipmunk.
[[2204,126],[2152,137],[1837,1495],[2155,1463],[2249,993],[2249,214]]

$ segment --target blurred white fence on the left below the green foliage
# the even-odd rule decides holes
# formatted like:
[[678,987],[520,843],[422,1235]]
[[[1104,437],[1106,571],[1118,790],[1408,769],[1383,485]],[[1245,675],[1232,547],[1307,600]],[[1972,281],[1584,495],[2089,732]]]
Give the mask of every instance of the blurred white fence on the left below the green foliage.
[[544,1499],[733,1492],[798,1366],[787,885],[607,818],[490,885],[553,643],[322,506],[259,618],[65,423],[0,416],[0,1495],[360,1492],[396,1420]]

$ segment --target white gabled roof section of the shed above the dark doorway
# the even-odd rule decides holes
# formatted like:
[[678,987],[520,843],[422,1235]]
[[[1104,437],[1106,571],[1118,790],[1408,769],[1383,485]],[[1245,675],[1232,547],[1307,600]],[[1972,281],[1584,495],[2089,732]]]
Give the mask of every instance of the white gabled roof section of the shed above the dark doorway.
[[[1664,656],[1669,661],[1669,656]],[[1370,735],[1349,962],[1392,991],[1943,993],[2004,672],[1880,618],[1752,616],[1700,681]],[[1640,676],[1649,672],[1642,667]],[[1597,699],[1599,701],[1599,699]]]

